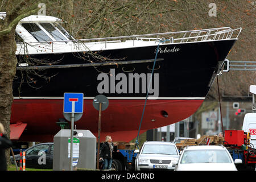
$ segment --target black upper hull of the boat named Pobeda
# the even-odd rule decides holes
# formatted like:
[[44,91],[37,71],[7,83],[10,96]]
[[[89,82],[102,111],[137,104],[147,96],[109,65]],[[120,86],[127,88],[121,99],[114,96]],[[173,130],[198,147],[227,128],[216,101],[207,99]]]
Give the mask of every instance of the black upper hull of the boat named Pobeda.
[[[214,42],[195,42],[183,44],[163,44],[159,47],[158,59],[154,73],[159,75],[159,98],[182,98],[182,97],[200,97],[204,98],[210,89],[210,82],[214,78],[218,64],[225,60],[235,39],[219,40]],[[124,59],[118,61],[146,60],[154,59],[156,46],[134,47],[125,49],[112,49],[99,51],[98,54],[111,59]],[[169,51],[168,51],[169,50]],[[176,51],[175,51],[176,50]],[[61,54],[38,54],[30,55],[34,59],[56,61],[61,60],[59,65],[84,64],[88,63],[79,58],[80,53],[61,53]],[[23,56],[17,56],[21,62]],[[91,57],[92,58],[92,57]],[[94,97],[98,94],[104,94],[107,97],[145,97],[146,93],[128,92],[117,93],[116,90],[110,90],[108,93],[99,93],[97,90],[101,80],[97,80],[101,72],[110,73],[114,69],[115,76],[118,73],[124,73],[127,78],[129,73],[151,73],[153,63],[134,63],[123,65],[104,65],[94,68],[53,68],[53,69],[34,69],[39,75],[53,76],[50,79],[34,75],[26,70],[16,71],[16,77],[13,82],[14,97],[63,97],[64,92],[82,92],[84,97]],[[29,68],[29,67],[28,67]],[[40,66],[38,67],[40,68]],[[130,71],[130,72],[124,72]],[[23,74],[23,82],[22,74]],[[32,77],[27,80],[26,75]],[[109,82],[111,76],[108,75]],[[113,76],[112,76],[113,77]],[[148,80],[148,79],[147,79]],[[113,81],[113,80],[112,80]],[[153,88],[154,88],[153,78]],[[28,84],[30,82],[30,84]],[[114,85],[119,81],[115,80]],[[128,80],[127,80],[128,83]],[[112,82],[113,84],[113,82]],[[151,94],[153,95],[153,94]]]

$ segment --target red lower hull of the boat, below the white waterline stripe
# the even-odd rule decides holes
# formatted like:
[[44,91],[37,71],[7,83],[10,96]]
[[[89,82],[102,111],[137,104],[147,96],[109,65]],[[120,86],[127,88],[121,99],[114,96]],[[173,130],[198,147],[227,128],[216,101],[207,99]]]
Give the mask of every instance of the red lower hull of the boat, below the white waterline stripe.
[[[141,132],[171,125],[188,118],[204,100],[148,100],[143,116]],[[109,100],[108,109],[102,111],[101,142],[106,135],[113,141],[130,142],[138,135],[144,100]],[[168,117],[162,115],[168,113]],[[56,122],[63,116],[63,100],[15,99],[12,106],[11,124],[27,123],[19,141],[52,142],[60,130]],[[76,129],[90,130],[96,137],[98,111],[92,100],[84,100],[84,114],[75,122]]]

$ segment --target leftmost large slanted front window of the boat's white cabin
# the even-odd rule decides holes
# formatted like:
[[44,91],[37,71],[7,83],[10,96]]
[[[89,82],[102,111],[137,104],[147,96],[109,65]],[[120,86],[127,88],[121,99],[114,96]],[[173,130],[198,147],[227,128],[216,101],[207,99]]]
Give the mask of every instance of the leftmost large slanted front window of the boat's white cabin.
[[22,23],[22,26],[39,42],[52,41],[44,31],[35,23]]

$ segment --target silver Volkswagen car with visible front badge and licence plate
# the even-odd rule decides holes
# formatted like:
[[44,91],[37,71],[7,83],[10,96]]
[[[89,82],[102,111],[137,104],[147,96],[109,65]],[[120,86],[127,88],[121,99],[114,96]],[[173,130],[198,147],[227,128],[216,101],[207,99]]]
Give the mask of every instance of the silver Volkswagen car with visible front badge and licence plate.
[[[171,142],[144,142],[135,159],[135,170],[174,170],[179,151]],[[174,164],[175,163],[175,164]]]

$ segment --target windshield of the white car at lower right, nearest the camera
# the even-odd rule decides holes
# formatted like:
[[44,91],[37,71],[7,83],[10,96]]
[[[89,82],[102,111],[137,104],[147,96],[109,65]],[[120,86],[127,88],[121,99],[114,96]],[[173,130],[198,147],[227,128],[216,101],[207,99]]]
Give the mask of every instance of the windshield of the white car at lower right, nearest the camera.
[[232,163],[232,161],[225,150],[186,150],[180,163]]

